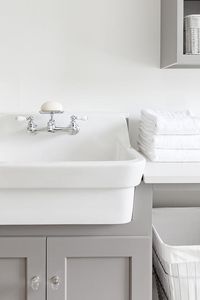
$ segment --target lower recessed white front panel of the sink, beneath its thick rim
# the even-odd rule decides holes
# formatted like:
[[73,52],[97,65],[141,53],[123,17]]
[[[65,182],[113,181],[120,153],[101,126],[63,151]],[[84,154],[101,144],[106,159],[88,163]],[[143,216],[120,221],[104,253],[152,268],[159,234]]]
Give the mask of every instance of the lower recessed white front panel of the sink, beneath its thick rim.
[[133,199],[134,188],[0,189],[0,224],[123,224]]

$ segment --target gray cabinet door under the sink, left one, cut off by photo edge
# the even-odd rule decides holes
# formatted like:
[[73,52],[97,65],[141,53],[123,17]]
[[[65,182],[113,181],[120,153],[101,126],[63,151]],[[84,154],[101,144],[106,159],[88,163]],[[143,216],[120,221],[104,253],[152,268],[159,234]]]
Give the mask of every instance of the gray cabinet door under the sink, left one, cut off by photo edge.
[[0,238],[0,299],[45,300],[44,238]]

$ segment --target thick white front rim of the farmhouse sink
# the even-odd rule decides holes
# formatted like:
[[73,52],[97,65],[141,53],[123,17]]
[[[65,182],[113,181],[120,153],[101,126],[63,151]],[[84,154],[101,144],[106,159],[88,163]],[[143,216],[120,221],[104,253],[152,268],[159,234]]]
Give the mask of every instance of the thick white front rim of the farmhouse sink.
[[130,188],[141,182],[146,160],[128,148],[131,160],[0,164],[0,189]]

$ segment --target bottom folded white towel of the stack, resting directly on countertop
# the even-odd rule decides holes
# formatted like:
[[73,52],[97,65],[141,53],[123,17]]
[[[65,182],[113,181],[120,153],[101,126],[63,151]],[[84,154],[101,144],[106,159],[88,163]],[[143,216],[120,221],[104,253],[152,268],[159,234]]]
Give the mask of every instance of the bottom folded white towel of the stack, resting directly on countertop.
[[147,158],[155,162],[200,162],[200,150],[154,149],[146,151],[139,146]]

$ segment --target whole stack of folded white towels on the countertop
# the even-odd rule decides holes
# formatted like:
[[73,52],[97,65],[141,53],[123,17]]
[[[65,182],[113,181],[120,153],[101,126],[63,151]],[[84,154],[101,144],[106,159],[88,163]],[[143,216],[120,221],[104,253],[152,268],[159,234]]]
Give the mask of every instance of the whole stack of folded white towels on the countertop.
[[200,118],[189,111],[142,110],[138,146],[152,161],[200,161]]

